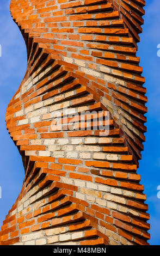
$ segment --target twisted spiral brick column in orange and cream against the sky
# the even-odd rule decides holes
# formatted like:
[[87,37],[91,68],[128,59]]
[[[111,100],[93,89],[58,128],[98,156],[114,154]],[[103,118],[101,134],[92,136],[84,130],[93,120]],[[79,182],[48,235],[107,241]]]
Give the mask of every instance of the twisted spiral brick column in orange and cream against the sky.
[[[27,71],[6,123],[25,178],[1,245],[147,245],[137,174],[147,101],[137,42],[144,0],[11,0]],[[106,111],[99,129],[52,125],[54,111]],[[94,117],[91,128],[95,127]],[[79,116],[77,117],[77,122]],[[78,127],[78,123],[76,125]]]

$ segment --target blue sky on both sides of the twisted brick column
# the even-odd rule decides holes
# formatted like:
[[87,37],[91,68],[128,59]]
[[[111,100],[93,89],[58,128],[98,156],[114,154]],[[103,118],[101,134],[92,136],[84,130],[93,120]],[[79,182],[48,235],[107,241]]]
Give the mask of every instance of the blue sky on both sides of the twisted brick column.
[[[21,190],[24,169],[21,156],[5,128],[5,109],[19,87],[26,71],[27,56],[19,28],[9,13],[10,0],[0,3],[0,225],[5,215],[14,204]],[[157,198],[157,187],[160,185],[160,57],[157,56],[157,45],[160,44],[160,1],[146,1],[143,34],[140,34],[137,56],[143,66],[146,78],[148,113],[147,133],[144,152],[138,169],[141,184],[147,195],[151,224],[151,245],[160,245],[160,199]]]

